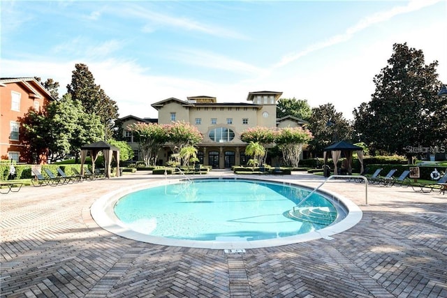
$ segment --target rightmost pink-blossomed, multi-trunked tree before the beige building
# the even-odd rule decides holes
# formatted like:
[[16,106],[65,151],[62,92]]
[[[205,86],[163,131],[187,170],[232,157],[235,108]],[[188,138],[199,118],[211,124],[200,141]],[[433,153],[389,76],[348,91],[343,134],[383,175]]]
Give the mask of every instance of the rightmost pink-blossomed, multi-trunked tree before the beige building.
[[284,161],[292,167],[298,167],[302,147],[309,140],[312,140],[312,133],[301,127],[281,128],[276,137],[276,143],[282,151]]

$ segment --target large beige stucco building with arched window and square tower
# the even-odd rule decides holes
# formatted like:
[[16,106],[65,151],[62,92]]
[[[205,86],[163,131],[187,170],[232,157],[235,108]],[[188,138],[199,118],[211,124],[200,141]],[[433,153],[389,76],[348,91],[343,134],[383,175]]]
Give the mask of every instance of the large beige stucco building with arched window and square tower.
[[[122,122],[123,137],[138,156],[138,143],[133,142],[130,131],[126,129],[135,122],[157,122],[170,124],[173,121],[189,122],[203,134],[203,141],[198,144],[198,159],[203,165],[226,168],[233,165],[244,165],[248,158],[244,151],[246,143],[240,140],[240,133],[248,128],[262,126],[272,128],[302,126],[305,121],[295,117],[277,119],[276,105],[282,92],[257,91],[250,92],[247,103],[218,103],[211,96],[191,96],[187,100],[167,98],[153,103],[159,112],[158,119],[140,119],[127,116]],[[170,157],[170,149],[166,147],[159,153],[157,164],[165,165]],[[138,158],[140,160],[141,158]]]

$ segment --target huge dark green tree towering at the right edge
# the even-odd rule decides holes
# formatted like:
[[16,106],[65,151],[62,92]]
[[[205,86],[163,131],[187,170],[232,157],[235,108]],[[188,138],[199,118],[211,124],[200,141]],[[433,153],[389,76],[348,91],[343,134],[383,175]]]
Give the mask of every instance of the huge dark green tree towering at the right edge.
[[374,77],[371,100],[353,111],[359,140],[374,151],[408,157],[413,147],[443,144],[447,99],[437,96],[437,66],[437,61],[425,65],[422,50],[393,45],[388,65]]

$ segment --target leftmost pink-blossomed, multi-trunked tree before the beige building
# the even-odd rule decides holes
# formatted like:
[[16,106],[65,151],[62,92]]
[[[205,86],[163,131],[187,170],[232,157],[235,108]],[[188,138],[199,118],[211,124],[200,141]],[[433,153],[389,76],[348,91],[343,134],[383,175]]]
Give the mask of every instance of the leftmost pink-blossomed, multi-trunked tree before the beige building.
[[168,141],[168,134],[159,124],[135,123],[127,127],[135,134],[135,140],[145,165],[155,165],[159,151]]

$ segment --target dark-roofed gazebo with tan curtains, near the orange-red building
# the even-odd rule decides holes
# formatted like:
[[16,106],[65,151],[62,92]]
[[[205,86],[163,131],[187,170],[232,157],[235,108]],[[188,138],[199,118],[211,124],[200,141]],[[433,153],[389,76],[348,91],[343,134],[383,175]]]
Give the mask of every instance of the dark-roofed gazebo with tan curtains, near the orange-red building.
[[81,147],[81,174],[84,174],[85,158],[87,158],[89,152],[91,156],[91,170],[92,172],[95,171],[95,161],[100,151],[103,151],[104,156],[105,177],[110,178],[110,163],[112,163],[112,157],[117,161],[117,176],[119,176],[119,149],[104,141],[94,142]]

